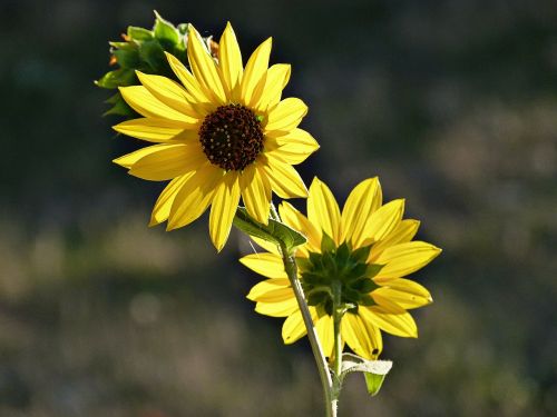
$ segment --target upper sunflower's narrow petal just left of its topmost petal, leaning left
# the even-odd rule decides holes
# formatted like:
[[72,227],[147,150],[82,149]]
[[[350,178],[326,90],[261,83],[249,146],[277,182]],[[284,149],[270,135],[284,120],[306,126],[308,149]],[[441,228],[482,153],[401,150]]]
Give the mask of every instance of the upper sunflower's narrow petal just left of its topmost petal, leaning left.
[[211,57],[207,48],[203,44],[202,37],[189,24],[187,36],[187,58],[195,78],[199,81],[205,95],[212,97],[215,102],[226,102],[226,93],[218,76],[216,63]]

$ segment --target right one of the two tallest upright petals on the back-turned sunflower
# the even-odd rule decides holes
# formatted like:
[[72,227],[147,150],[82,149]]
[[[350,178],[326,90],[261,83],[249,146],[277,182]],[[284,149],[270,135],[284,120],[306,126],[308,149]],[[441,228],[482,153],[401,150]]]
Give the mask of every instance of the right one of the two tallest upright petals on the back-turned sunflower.
[[369,178],[350,192],[342,209],[342,239],[350,240],[354,247],[361,247],[365,236],[363,231],[371,215],[381,207],[381,185],[377,177]]

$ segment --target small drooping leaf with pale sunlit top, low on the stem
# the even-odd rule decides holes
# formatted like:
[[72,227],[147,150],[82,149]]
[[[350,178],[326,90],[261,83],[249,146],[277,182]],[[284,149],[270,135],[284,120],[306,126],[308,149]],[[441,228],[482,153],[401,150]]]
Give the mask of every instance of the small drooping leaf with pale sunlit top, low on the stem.
[[350,373],[362,373],[365,378],[368,393],[371,396],[375,396],[381,389],[384,378],[391,368],[391,360],[369,360],[358,355],[343,354],[339,380],[342,383]]

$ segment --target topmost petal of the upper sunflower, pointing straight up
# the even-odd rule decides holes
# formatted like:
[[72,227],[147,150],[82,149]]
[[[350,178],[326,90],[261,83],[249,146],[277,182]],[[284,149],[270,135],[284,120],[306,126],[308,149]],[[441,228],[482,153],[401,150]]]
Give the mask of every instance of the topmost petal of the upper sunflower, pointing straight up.
[[240,89],[242,80],[242,52],[229,22],[226,23],[226,29],[218,44],[218,66],[223,75],[223,85],[228,92],[228,99],[236,101],[238,96],[233,92]]

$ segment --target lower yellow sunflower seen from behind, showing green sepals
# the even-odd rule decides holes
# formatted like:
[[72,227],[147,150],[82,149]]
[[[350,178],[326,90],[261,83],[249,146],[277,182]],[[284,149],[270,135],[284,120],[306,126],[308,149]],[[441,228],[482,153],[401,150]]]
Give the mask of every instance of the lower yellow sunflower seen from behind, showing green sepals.
[[[429,264],[441,249],[412,241],[419,221],[402,219],[404,200],[382,203],[378,178],[367,179],[350,193],[342,214],[331,190],[315,178],[307,198],[307,217],[289,202],[280,206],[282,220],[302,231],[307,242],[295,254],[299,278],[325,356],[334,344],[333,308],[345,311],[342,342],[358,355],[373,359],[382,350],[381,331],[418,337],[407,310],[432,302],[429,291],[405,279]],[[285,344],[306,334],[281,254],[273,245],[256,240],[268,252],[253,254],[241,262],[268,279],[255,285],[247,298],[255,310],[287,317],[282,328]],[[338,294],[340,306],[333,306]]]

